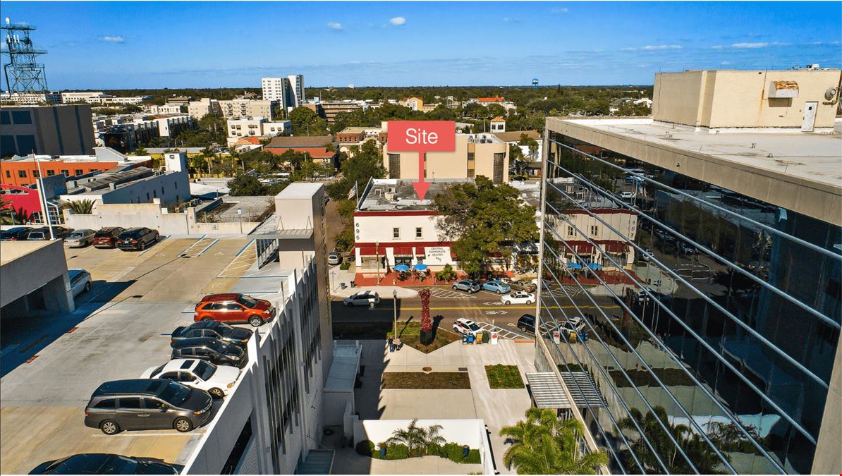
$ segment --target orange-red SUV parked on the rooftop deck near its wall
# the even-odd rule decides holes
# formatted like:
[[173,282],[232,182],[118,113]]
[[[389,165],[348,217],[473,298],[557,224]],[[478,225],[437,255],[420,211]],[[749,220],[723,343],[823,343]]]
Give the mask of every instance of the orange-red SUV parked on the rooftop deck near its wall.
[[193,320],[218,321],[221,323],[248,323],[254,327],[266,324],[274,318],[274,307],[265,299],[256,299],[245,294],[210,294],[196,304]]

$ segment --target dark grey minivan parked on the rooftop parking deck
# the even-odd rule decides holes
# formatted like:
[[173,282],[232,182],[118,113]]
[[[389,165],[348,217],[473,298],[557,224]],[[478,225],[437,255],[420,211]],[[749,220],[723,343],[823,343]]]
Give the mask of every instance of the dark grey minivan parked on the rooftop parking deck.
[[85,426],[106,435],[123,430],[191,431],[213,413],[213,399],[204,390],[163,378],[105,382],[85,407]]

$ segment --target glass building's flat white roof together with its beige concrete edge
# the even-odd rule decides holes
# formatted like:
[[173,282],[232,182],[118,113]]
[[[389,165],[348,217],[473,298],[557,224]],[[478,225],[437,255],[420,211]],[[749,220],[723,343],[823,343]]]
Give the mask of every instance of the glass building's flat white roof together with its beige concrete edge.
[[701,129],[651,118],[546,119],[557,131],[644,163],[842,224],[842,135],[792,129]]

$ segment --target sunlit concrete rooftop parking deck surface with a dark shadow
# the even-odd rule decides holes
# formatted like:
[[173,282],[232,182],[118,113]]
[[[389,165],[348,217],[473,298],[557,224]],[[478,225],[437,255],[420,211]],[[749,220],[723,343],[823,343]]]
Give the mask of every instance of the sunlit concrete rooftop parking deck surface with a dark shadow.
[[136,378],[169,359],[169,333],[192,322],[201,296],[231,290],[253,263],[248,239],[165,238],[143,252],[67,249],[67,267],[91,273],[77,311],[3,319],[0,473],[28,473],[79,452],[115,452],[182,463],[202,429],[182,434],[125,431],[105,436],[83,425],[100,383]]

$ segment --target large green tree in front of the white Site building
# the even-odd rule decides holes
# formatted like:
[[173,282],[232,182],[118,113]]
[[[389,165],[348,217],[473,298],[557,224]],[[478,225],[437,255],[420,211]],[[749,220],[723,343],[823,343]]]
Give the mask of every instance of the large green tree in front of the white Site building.
[[456,238],[451,249],[469,274],[481,272],[489,256],[538,239],[535,207],[521,201],[514,187],[495,186],[488,177],[450,185],[433,203],[440,215],[437,227],[445,238]]

